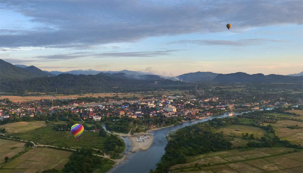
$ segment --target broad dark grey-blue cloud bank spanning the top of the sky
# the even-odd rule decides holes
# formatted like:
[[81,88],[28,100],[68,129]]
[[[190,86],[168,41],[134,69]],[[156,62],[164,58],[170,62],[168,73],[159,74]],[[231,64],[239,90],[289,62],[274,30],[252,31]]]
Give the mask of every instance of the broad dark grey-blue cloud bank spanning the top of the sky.
[[1,1],[0,7],[1,13],[28,18],[27,29],[1,29],[3,48],[94,49],[153,36],[224,32],[226,23],[232,23],[231,32],[303,23],[302,1]]

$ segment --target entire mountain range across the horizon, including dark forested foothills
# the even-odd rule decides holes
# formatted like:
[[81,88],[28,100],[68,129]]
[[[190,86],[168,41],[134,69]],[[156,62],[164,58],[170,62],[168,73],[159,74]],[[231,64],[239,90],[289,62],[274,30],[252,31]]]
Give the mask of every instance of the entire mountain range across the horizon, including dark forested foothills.
[[[77,70],[71,71],[76,73]],[[92,72],[87,70],[84,72]],[[79,73],[83,70],[78,70]],[[98,73],[97,73],[98,72]],[[24,93],[54,92],[133,92],[152,91],[154,89],[192,89],[202,82],[303,82],[303,76],[290,75],[249,75],[243,72],[218,74],[212,72],[195,72],[164,78],[153,73],[123,70],[119,72],[99,72],[95,75],[48,73],[35,66],[17,67],[0,59],[1,92]]]

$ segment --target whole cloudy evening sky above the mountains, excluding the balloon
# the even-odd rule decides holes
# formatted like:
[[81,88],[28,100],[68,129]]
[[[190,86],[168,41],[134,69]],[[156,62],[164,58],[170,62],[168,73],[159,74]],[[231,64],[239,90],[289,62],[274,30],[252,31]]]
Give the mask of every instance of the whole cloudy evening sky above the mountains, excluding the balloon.
[[12,64],[165,76],[303,71],[301,0],[1,0],[0,9],[0,57]]

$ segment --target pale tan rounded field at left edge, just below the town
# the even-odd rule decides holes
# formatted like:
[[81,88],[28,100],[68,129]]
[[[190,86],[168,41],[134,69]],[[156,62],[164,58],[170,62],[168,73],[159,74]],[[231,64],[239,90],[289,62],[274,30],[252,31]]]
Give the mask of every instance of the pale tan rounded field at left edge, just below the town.
[[35,128],[39,128],[45,125],[45,121],[35,121],[35,122],[14,122],[1,125],[0,128],[5,128],[8,133],[20,133],[24,131],[29,131]]

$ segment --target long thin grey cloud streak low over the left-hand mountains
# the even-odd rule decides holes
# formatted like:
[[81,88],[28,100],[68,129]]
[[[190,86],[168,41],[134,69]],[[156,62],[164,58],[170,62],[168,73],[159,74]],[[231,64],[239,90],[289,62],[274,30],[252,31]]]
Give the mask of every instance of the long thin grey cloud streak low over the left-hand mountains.
[[156,57],[161,55],[173,55],[173,52],[178,52],[182,50],[164,50],[164,51],[141,51],[141,52],[75,52],[69,54],[56,54],[56,55],[42,55],[35,56],[41,60],[66,60],[66,59],[76,59],[76,58],[108,58],[108,57]]

